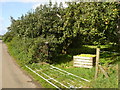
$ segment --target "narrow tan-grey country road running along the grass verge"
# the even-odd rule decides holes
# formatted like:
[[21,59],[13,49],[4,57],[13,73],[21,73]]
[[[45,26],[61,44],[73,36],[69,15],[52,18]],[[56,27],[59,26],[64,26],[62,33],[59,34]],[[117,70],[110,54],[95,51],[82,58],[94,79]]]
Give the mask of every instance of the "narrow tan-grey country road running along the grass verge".
[[0,80],[0,88],[38,88],[15,64],[2,40],[0,40]]

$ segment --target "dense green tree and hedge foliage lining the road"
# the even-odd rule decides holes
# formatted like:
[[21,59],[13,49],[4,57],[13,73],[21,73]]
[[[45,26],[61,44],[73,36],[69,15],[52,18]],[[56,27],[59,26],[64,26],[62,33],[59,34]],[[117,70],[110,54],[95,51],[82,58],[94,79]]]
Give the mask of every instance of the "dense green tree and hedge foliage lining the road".
[[26,53],[28,63],[50,62],[56,55],[82,44],[118,43],[118,7],[117,2],[72,2],[64,8],[62,3],[58,6],[50,2],[17,20],[11,17],[4,41]]

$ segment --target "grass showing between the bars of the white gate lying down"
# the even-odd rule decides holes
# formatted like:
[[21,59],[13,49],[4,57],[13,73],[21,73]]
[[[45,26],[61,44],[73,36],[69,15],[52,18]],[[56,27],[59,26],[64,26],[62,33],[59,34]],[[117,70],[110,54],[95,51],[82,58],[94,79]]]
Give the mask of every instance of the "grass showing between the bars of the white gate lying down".
[[[71,75],[67,75],[67,74],[61,74],[58,71],[54,71],[54,69],[50,69],[49,65],[34,65],[34,66],[30,66],[33,70],[35,70],[35,68],[40,69],[40,67],[42,68],[42,71],[38,71],[38,73],[43,72],[46,73],[47,75],[49,75],[52,78],[55,78],[57,81],[63,83],[64,85],[70,87],[70,85],[68,83],[70,83],[71,85],[75,86],[75,87],[80,87],[80,85],[85,86],[86,82],[76,78],[74,76]],[[64,69],[64,68],[62,68]],[[65,70],[65,69],[64,69]],[[66,70],[67,71],[67,70]],[[40,73],[40,75],[42,75],[42,73]],[[43,75],[44,76],[44,75]],[[78,75],[80,76],[80,75]],[[44,76],[46,77],[46,76]],[[46,77],[47,78],[47,77]],[[74,79],[76,80],[74,80]],[[79,81],[82,81],[81,83]],[[51,80],[51,82],[55,83],[53,80]],[[61,88],[64,88],[62,85],[60,85],[59,83],[55,83],[56,85],[58,85]],[[79,85],[80,84],[80,85]]]

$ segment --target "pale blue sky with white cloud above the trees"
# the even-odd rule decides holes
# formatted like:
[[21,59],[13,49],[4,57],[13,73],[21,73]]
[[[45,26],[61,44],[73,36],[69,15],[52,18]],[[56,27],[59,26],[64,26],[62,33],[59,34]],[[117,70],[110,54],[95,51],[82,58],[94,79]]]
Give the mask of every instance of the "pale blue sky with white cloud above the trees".
[[[70,0],[51,0],[54,2],[63,2]],[[28,11],[35,9],[40,4],[48,4],[49,0],[0,0],[0,35],[7,32],[10,26],[10,16],[14,19],[26,14]]]

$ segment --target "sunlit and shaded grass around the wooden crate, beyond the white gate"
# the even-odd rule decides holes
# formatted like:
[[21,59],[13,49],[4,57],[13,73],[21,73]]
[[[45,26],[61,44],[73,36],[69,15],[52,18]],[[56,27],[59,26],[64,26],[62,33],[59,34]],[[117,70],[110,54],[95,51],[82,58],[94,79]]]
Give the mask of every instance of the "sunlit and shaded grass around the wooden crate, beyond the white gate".
[[[104,68],[104,70],[108,73],[109,78],[105,78],[104,74],[99,70],[99,76],[97,80],[94,79],[95,68],[92,69],[85,69],[85,68],[75,68],[73,67],[73,57],[72,54],[70,55],[63,55],[59,57],[59,62],[55,63],[56,67],[64,69],[68,72],[71,72],[76,75],[80,75],[86,79],[90,79],[91,83],[87,83],[85,87],[90,88],[118,88],[118,63],[120,63],[120,53],[113,53],[111,49],[109,49],[110,45],[102,45],[101,50],[107,49],[110,52],[101,52],[100,53],[100,64]],[[81,48],[80,48],[81,49]],[[80,51],[77,49],[77,51]],[[80,52],[84,52],[89,54],[95,53],[96,46],[83,46]],[[69,58],[69,57],[70,58]],[[65,59],[64,59],[65,57]],[[67,60],[66,60],[67,58]],[[64,62],[64,63],[62,63]]]

